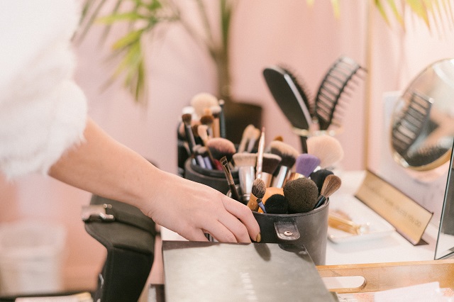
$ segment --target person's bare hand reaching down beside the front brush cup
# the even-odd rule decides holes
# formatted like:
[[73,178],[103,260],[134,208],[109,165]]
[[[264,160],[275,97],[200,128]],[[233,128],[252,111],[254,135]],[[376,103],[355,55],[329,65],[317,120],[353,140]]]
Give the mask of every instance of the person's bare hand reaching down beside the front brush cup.
[[159,225],[187,240],[206,241],[204,233],[220,242],[260,241],[260,228],[250,209],[204,184],[174,174],[160,174],[152,200],[142,211]]

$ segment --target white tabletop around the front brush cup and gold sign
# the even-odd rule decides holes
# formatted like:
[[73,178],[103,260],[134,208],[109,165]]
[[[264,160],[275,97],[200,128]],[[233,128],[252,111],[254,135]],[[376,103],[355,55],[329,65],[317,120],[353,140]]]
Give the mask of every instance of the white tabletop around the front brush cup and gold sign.
[[[336,206],[337,202],[343,205],[358,208],[358,211],[367,213],[367,216],[377,216],[377,214],[364,203],[355,198],[354,194],[362,179],[365,177],[364,171],[340,172],[342,179],[341,189],[336,191],[330,198],[331,205]],[[379,219],[380,216],[378,216]],[[390,235],[381,238],[361,240],[355,242],[334,243],[328,240],[326,247],[326,264],[360,264],[377,262],[403,262],[432,260],[435,255],[438,225],[436,222],[429,223],[423,240],[427,245],[414,246],[402,235],[393,231]],[[162,228],[162,240],[184,240],[170,230]]]

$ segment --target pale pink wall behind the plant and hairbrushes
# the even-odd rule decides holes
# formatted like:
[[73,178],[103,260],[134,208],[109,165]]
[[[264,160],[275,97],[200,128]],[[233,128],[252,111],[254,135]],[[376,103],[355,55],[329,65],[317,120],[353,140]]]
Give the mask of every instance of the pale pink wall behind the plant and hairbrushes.
[[[341,1],[339,20],[333,17],[329,1],[316,1],[313,8],[301,0],[240,2],[233,23],[233,94],[237,99],[263,107],[268,140],[282,135],[286,142],[299,147],[298,138],[262,79],[262,69],[267,65],[283,63],[292,67],[315,94],[321,77],[339,55],[348,55],[365,65],[367,35],[373,35],[373,103],[379,104],[383,91],[399,88],[402,71],[393,63],[401,62],[404,54],[407,67],[411,66],[410,62],[416,60],[412,55],[415,49],[402,50],[399,37],[379,18],[375,18],[372,32],[366,34],[365,2]],[[148,50],[150,103],[144,108],[133,104],[131,96],[118,83],[101,91],[112,65],[106,62],[109,47],[98,43],[99,34],[100,30],[94,28],[76,46],[79,57],[76,79],[88,96],[90,116],[114,138],[153,160],[161,169],[177,172],[175,130],[181,108],[189,104],[194,94],[215,91],[214,66],[181,28],[172,28],[162,43]],[[344,133],[338,135],[345,150],[343,169],[365,167],[364,87],[365,82],[350,99]],[[380,113],[378,109],[377,112]],[[372,128],[375,121],[380,121],[380,115],[374,113],[370,117]],[[372,156],[373,149],[372,143]],[[2,182],[1,189],[7,194],[0,196],[0,221],[39,218],[67,226],[67,281],[72,286],[93,285],[104,248],[85,233],[79,218],[80,207],[89,203],[90,194],[36,176],[25,177],[15,185]]]

